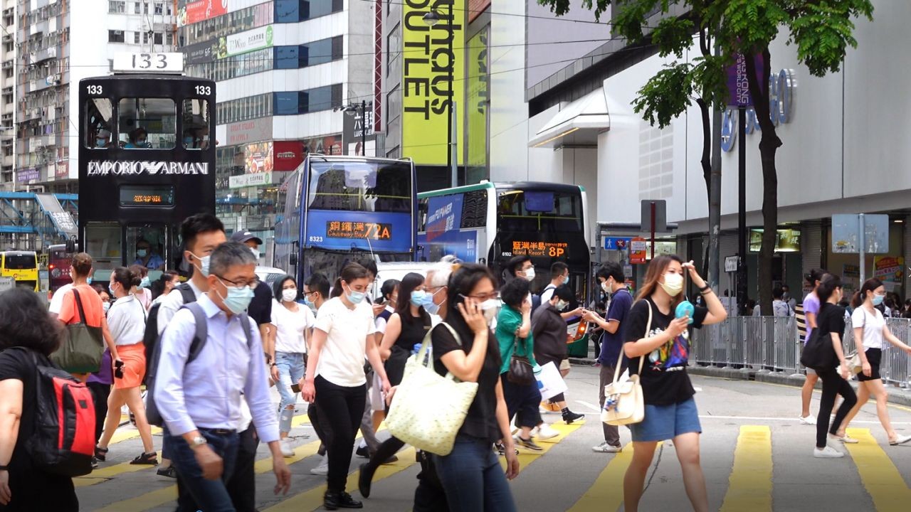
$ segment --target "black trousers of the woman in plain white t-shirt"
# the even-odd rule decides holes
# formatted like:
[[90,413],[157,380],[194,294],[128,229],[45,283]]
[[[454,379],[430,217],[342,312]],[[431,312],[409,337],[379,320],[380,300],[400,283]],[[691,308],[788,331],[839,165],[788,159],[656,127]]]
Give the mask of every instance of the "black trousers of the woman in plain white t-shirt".
[[327,487],[329,492],[343,492],[351,466],[354,436],[361,426],[367,400],[367,386],[336,385],[322,375],[317,376],[313,384],[316,388],[316,409],[329,449]]

